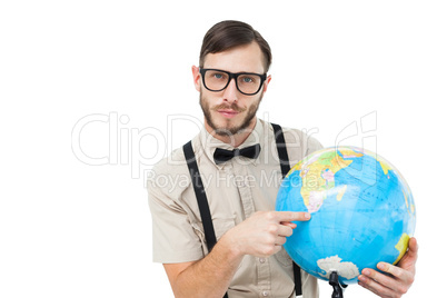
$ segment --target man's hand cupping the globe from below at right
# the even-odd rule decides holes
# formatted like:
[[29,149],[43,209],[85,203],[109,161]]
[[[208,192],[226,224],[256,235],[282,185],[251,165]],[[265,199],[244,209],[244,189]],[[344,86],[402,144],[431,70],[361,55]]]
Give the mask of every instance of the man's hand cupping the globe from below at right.
[[397,266],[379,262],[377,268],[364,269],[359,276],[359,285],[383,298],[401,297],[415,280],[418,245],[415,238],[409,240],[409,249]]

